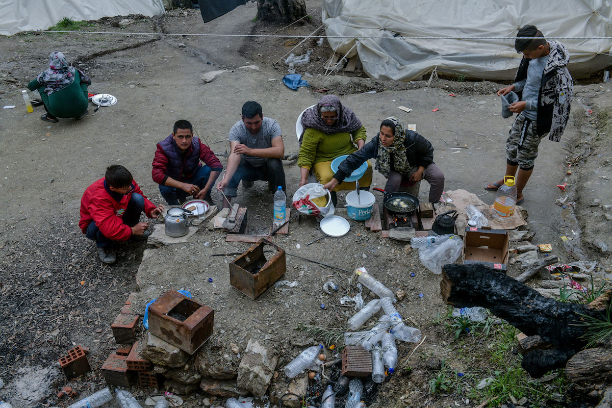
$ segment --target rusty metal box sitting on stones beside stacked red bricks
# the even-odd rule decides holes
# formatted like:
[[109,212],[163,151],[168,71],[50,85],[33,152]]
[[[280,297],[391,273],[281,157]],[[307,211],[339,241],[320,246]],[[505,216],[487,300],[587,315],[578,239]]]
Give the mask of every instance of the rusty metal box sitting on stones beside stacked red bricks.
[[149,332],[193,354],[212,335],[214,313],[177,291],[168,291],[149,306]]

